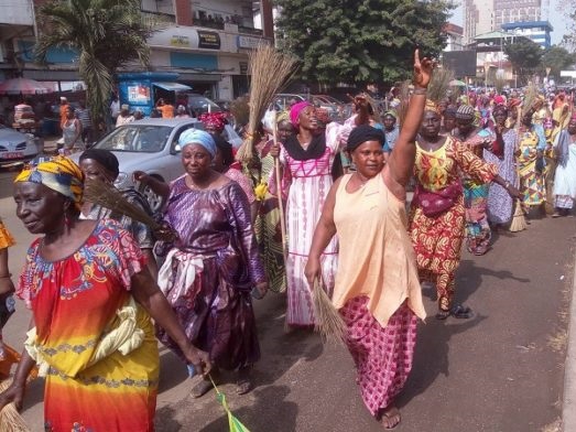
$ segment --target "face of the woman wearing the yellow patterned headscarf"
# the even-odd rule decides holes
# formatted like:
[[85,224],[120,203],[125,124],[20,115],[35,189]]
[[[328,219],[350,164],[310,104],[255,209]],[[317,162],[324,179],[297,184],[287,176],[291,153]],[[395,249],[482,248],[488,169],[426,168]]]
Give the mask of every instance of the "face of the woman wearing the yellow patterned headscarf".
[[31,234],[57,231],[64,224],[66,198],[43,184],[18,182],[14,184],[17,216]]

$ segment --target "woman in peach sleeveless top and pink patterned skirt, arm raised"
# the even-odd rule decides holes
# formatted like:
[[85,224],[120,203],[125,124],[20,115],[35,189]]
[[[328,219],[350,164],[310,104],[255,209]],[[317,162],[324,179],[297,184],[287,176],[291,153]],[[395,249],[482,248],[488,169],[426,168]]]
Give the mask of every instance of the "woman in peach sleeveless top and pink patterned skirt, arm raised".
[[426,315],[406,234],[405,197],[432,67],[427,58],[420,62],[416,51],[416,88],[390,163],[384,164],[381,130],[360,125],[351,131],[347,150],[357,172],[332,186],[305,269],[314,287],[323,278],[322,252],[338,235],[333,303],[348,327],[363,402],[384,429],[400,423],[394,398],[412,368],[416,316]]

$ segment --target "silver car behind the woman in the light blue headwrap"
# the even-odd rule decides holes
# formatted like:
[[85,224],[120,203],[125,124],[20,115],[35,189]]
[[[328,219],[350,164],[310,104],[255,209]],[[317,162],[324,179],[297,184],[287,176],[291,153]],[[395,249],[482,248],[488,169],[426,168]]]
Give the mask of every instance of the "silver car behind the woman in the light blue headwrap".
[[[118,188],[135,187],[144,194],[153,212],[162,208],[163,198],[149,187],[134,184],[132,173],[144,171],[161,181],[171,182],[184,174],[178,138],[187,129],[204,129],[195,118],[146,118],[120,126],[98,141],[94,148],[110,150],[118,158]],[[73,155],[76,162],[78,155]]]

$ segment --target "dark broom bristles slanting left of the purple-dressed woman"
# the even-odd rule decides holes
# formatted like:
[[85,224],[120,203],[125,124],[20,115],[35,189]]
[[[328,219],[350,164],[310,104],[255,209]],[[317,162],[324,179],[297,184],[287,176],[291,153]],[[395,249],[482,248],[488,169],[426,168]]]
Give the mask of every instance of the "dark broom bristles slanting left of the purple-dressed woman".
[[159,223],[155,222],[152,216],[142,208],[127,201],[122,193],[112,185],[98,180],[88,180],[86,181],[86,186],[84,188],[84,197],[90,203],[98,204],[99,206],[106,207],[115,213],[120,213],[148,225],[152,229],[160,228]]

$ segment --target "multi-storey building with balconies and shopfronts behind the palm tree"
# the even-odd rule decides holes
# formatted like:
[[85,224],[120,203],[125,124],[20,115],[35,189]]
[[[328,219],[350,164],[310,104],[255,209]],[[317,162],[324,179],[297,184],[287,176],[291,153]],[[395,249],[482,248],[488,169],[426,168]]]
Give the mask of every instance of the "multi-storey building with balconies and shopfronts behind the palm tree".
[[[56,90],[78,84],[77,53],[52,50],[47,66],[34,63],[35,10],[45,0],[0,0],[0,79],[24,76],[54,83]],[[230,100],[248,90],[248,53],[273,43],[271,0],[141,0],[144,14],[169,25],[150,40],[150,69],[176,72],[193,91]],[[254,17],[260,22],[254,25]],[[139,66],[124,72],[140,72]]]

